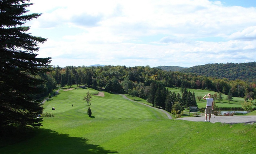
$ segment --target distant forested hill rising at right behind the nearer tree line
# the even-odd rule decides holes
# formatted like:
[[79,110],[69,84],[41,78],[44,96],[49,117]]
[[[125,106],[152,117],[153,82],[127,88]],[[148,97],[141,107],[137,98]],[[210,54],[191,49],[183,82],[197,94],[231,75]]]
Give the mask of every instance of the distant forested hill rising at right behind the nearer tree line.
[[193,66],[180,70],[183,73],[195,73],[202,76],[227,78],[229,80],[240,79],[243,81],[256,81],[256,62],[250,63],[215,63]]

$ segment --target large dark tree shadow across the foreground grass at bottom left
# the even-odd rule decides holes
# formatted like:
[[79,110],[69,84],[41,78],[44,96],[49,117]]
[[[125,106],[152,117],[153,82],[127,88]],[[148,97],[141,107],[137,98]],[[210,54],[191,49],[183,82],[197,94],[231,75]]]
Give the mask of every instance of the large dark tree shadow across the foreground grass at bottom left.
[[38,129],[25,141],[1,147],[3,153],[118,153],[105,150],[100,145],[88,143],[88,139],[60,134],[50,129]]

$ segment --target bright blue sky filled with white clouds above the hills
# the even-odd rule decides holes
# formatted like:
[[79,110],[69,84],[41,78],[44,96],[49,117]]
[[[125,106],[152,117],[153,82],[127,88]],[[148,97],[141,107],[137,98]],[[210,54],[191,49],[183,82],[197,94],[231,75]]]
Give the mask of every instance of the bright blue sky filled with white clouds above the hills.
[[256,1],[31,0],[25,26],[51,65],[181,66],[256,61]]

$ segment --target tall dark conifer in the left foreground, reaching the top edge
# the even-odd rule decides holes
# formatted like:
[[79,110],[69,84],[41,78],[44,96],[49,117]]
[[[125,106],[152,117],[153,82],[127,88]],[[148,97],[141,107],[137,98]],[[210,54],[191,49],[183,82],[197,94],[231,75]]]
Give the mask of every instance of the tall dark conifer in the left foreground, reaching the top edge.
[[41,14],[26,14],[30,0],[0,0],[0,130],[6,128],[36,128],[41,125],[40,102],[44,83],[37,75],[47,71],[50,58],[37,58],[38,43],[45,38],[31,36],[26,21]]

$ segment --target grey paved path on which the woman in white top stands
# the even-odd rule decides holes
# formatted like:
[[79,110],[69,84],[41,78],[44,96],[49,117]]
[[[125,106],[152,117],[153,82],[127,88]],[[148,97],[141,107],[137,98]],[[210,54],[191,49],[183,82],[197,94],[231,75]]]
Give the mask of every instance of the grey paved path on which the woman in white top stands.
[[[209,118],[209,116],[208,116]],[[189,121],[205,121],[205,115],[197,117],[177,118],[176,120],[189,120]],[[256,123],[256,116],[214,116],[212,115],[211,123]]]

